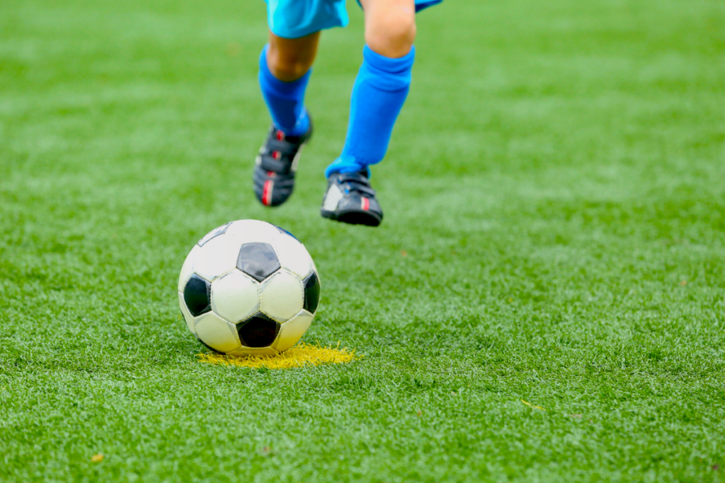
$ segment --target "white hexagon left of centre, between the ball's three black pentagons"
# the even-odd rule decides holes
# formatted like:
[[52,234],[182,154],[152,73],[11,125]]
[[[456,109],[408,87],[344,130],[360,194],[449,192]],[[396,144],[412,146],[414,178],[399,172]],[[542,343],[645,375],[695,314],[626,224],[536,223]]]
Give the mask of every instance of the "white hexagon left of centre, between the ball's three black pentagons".
[[260,309],[260,284],[238,269],[212,282],[212,310],[232,324]]

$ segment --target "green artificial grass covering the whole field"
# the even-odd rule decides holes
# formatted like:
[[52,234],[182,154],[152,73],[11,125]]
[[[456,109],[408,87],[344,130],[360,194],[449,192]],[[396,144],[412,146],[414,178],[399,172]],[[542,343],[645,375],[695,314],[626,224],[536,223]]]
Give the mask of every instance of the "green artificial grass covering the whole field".
[[[297,192],[267,210],[262,1],[2,4],[0,479],[725,480],[722,2],[424,12],[378,230],[318,214],[349,7]],[[305,340],[362,360],[196,361],[178,269],[242,218],[305,242]]]

